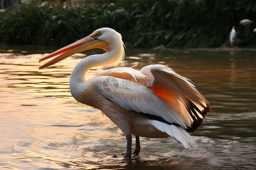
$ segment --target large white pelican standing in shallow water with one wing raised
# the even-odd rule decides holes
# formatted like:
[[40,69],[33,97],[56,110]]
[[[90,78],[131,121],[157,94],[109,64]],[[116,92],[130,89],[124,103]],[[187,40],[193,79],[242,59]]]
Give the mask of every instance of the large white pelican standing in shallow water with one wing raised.
[[[97,70],[92,78],[85,80],[85,74],[92,67],[118,65],[124,59],[122,37],[113,29],[98,29],[41,58],[39,62],[59,55],[39,69],[92,48],[107,52],[90,55],[74,67],[70,76],[70,92],[77,101],[101,110],[118,125],[127,139],[125,158],[139,153],[139,136],[173,136],[185,148],[195,145],[188,132],[194,132],[202,124],[210,112],[210,105],[189,79],[169,67],[148,65],[140,71],[128,67]],[[133,152],[132,134],[136,137]]]

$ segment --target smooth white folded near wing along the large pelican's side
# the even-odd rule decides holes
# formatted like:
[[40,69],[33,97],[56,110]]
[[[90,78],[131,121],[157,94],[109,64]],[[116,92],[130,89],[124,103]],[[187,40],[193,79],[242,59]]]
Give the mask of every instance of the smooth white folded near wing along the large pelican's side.
[[105,99],[120,105],[124,109],[131,110],[137,113],[144,113],[158,116],[159,119],[164,119],[163,122],[169,124],[180,125],[186,128],[182,117],[169,107],[162,99],[154,95],[151,90],[144,85],[135,83],[129,86],[130,80],[114,78],[115,83],[118,83],[118,88],[115,91],[109,92],[104,87],[104,80],[110,79],[110,76],[98,76],[93,80],[94,89]]

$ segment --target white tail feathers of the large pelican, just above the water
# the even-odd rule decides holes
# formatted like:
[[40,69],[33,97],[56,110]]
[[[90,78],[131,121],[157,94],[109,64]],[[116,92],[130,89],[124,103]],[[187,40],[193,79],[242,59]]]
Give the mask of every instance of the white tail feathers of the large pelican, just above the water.
[[190,149],[190,145],[195,146],[195,141],[193,140],[193,138],[181,126],[168,125],[157,120],[152,120],[152,125],[154,125],[154,127],[158,130],[174,137],[186,149]]

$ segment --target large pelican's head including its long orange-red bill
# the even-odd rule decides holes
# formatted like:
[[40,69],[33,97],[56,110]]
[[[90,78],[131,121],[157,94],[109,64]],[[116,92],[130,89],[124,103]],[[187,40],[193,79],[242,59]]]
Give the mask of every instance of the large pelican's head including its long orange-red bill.
[[45,57],[42,57],[39,62],[59,55],[56,58],[41,65],[39,69],[53,65],[76,53],[94,48],[100,48],[107,52],[115,51],[115,55],[112,55],[112,59],[109,60],[109,65],[117,65],[119,61],[123,60],[124,58],[124,49],[121,34],[111,28],[100,28],[98,30],[95,30],[91,35],[88,35],[87,37],[78,40],[71,45],[67,45],[66,47],[56,50],[51,54],[46,55]]

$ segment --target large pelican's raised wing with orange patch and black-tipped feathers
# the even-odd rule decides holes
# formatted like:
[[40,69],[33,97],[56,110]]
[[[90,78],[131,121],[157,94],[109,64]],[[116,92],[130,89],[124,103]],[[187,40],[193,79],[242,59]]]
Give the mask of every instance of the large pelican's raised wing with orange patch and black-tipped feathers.
[[189,132],[194,132],[202,124],[210,112],[210,104],[189,79],[164,65],[148,65],[141,72],[154,77],[154,85],[150,88],[182,117]]

